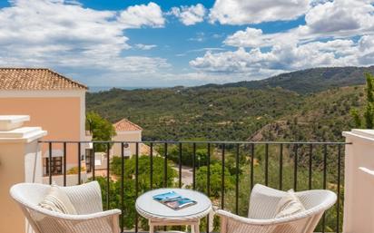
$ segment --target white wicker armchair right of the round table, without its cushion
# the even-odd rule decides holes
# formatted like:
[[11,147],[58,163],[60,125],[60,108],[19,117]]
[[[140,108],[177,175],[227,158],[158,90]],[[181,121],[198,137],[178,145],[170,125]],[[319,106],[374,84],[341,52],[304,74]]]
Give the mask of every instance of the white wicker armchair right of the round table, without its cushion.
[[305,211],[284,218],[275,218],[284,191],[257,184],[253,187],[248,218],[219,209],[221,233],[312,233],[326,209],[334,205],[337,196],[330,190],[296,192]]

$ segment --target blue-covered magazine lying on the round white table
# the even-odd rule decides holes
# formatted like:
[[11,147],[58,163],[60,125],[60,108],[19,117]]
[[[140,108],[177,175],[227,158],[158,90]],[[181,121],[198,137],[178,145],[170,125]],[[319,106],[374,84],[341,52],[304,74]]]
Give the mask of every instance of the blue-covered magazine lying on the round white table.
[[169,192],[155,195],[153,196],[153,199],[175,210],[183,209],[183,208],[195,205],[197,203],[195,200],[182,197],[175,191],[169,191]]

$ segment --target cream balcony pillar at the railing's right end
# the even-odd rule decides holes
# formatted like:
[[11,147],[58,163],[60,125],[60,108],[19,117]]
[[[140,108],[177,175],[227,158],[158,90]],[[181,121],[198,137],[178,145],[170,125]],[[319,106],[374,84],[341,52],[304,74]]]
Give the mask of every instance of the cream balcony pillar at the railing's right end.
[[374,130],[344,131],[344,233],[374,232]]

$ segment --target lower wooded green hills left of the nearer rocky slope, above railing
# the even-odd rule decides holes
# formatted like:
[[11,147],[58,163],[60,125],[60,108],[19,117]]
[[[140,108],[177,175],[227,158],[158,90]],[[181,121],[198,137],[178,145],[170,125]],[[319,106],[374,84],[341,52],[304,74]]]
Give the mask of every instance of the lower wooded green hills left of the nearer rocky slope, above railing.
[[113,89],[88,93],[87,111],[113,122],[128,118],[143,127],[144,140],[241,141],[294,112],[303,99],[281,88]]

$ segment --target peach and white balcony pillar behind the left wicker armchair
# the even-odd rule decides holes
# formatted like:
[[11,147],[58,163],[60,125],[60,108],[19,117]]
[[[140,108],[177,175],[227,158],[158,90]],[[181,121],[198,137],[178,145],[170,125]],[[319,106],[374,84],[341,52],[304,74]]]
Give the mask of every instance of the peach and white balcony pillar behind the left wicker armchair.
[[9,195],[15,183],[42,182],[42,155],[37,141],[40,127],[22,127],[29,116],[0,115],[0,232],[29,232],[21,209]]

